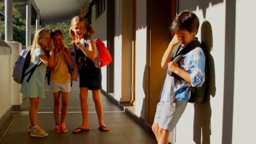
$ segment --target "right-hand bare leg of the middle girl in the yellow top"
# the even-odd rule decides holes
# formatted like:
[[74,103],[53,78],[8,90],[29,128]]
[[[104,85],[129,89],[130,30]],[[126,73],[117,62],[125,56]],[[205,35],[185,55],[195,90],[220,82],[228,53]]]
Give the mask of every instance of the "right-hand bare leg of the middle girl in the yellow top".
[[68,95],[69,92],[61,92],[61,124],[65,123],[68,110]]

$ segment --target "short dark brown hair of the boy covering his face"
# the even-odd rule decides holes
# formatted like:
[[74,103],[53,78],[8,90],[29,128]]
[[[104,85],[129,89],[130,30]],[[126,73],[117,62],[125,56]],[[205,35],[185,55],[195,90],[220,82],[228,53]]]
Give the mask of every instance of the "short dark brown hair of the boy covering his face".
[[177,32],[178,30],[193,32],[194,28],[196,28],[197,33],[199,28],[199,19],[192,11],[188,10],[179,13],[170,26],[172,33]]

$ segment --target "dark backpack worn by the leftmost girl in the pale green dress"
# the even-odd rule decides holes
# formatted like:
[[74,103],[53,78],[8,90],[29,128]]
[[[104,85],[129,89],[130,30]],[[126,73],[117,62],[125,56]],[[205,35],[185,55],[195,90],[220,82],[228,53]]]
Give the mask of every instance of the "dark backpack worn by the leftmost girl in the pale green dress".
[[31,58],[30,53],[31,53],[31,49],[29,48],[22,50],[20,52],[18,60],[15,62],[14,70],[13,70],[13,80],[19,84],[22,83],[24,77],[28,73],[30,73],[30,75],[28,76],[28,79],[26,81],[29,82],[32,74],[34,73],[34,70],[36,70],[36,68],[40,64],[42,64],[42,62],[40,61],[39,63],[34,65],[34,67],[32,67],[29,71],[27,71],[27,73],[25,73],[27,68],[30,66],[30,58]]

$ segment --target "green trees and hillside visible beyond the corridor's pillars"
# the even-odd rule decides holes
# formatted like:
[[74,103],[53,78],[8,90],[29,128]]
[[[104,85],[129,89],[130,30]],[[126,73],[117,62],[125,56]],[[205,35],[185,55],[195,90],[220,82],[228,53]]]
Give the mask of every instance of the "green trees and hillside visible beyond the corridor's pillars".
[[[0,10],[4,11],[4,2],[0,2]],[[46,25],[49,30],[60,29],[66,46],[71,46],[71,37],[69,36],[70,22],[60,22]],[[35,26],[31,26],[31,44],[35,33]],[[1,21],[1,39],[4,40],[4,21]],[[26,20],[21,14],[13,9],[13,40],[19,41],[22,45],[26,45]]]

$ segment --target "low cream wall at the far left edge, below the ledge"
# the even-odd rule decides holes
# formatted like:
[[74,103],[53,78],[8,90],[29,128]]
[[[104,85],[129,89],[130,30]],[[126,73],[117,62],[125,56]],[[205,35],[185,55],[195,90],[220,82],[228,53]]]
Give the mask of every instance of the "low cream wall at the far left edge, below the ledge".
[[11,107],[11,92],[10,92],[10,55],[0,55],[0,118]]

